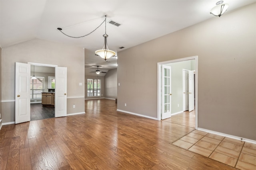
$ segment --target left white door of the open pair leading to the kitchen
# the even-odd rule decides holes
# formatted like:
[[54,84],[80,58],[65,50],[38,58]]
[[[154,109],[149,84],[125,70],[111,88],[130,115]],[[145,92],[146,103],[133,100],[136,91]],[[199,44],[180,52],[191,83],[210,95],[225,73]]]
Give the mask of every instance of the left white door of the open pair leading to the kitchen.
[[15,123],[30,121],[30,64],[15,66]]

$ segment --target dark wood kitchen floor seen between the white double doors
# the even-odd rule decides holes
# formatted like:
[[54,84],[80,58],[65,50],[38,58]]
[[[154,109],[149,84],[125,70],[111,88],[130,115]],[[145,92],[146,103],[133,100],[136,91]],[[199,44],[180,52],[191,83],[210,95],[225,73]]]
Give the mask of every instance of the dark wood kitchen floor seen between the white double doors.
[[30,120],[40,120],[52,118],[55,115],[55,107],[42,106],[42,103],[30,104]]

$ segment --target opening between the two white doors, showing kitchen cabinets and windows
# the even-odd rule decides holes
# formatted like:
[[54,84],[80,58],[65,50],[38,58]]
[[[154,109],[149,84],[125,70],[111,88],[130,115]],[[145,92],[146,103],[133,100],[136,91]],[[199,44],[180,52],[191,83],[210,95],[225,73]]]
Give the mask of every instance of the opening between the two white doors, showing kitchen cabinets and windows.
[[[30,121],[55,117],[54,98],[51,94],[55,92],[55,68],[31,64],[30,71]],[[46,97],[51,100],[48,105],[42,102]]]

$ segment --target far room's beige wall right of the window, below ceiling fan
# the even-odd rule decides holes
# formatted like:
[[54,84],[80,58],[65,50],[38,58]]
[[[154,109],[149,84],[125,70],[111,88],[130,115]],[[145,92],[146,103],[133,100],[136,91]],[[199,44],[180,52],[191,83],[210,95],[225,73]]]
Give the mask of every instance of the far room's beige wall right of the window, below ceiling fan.
[[117,98],[117,68],[108,70],[105,75],[105,98]]

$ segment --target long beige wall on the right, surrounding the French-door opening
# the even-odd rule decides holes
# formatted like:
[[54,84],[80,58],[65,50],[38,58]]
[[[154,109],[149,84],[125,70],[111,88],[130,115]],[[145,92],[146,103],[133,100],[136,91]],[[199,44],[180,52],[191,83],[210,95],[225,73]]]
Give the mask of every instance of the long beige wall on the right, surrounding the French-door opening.
[[255,3],[118,52],[118,109],[157,117],[157,63],[192,56],[198,127],[256,140]]

